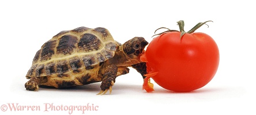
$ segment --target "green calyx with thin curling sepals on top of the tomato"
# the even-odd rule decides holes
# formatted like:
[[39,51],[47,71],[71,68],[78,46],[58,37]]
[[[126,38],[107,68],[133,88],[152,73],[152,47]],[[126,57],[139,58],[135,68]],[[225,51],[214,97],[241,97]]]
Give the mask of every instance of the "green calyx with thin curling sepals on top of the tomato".
[[[154,34],[153,36],[157,36],[157,35],[160,35],[160,34],[163,34],[163,33],[167,33],[167,32],[181,32],[181,33],[180,33],[180,39],[182,39],[182,36],[184,36],[184,34],[186,34],[186,33],[193,33],[193,32],[195,32],[195,30],[197,30],[198,28],[200,28],[202,25],[204,25],[204,24],[207,25],[206,22],[213,22],[213,21],[199,22],[197,25],[195,25],[195,26],[194,26],[192,29],[190,29],[188,32],[185,32],[185,30],[184,30],[184,25],[185,25],[185,24],[184,24],[184,21],[183,21],[183,20],[180,20],[180,21],[177,22],[178,25],[179,25],[179,31],[178,31],[178,30],[171,30],[171,29],[165,28],[165,27],[161,27],[161,28],[159,28],[159,29],[168,29],[168,30],[156,34],[156,31],[159,30],[159,29],[156,29],[156,30],[155,30],[155,34]],[[207,26],[209,27],[209,25],[207,25]],[[153,37],[153,36],[152,36],[152,37]]]

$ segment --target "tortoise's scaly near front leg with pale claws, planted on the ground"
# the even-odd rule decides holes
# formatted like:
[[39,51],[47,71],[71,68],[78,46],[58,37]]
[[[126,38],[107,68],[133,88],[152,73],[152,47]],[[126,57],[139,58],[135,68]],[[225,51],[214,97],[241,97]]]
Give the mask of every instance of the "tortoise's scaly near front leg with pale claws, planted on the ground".
[[103,74],[103,79],[100,85],[101,91],[97,95],[104,95],[110,90],[110,94],[112,92],[112,86],[114,86],[116,74],[118,72],[118,67],[115,64],[110,64],[106,67],[106,70]]

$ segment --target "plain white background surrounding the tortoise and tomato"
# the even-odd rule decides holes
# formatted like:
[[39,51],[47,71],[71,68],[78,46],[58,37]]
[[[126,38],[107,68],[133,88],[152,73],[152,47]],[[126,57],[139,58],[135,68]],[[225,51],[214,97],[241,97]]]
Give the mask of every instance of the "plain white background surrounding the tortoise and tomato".
[[[0,114],[69,114],[55,106],[99,106],[85,114],[255,114],[255,3],[251,1],[1,1]],[[196,32],[213,37],[220,50],[216,75],[199,90],[175,93],[155,84],[142,90],[138,72],[116,78],[112,94],[96,95],[100,83],[73,89],[27,91],[24,83],[36,51],[61,30],[104,27],[120,43],[134,36],[152,40],[155,29],[185,30],[208,22]],[[40,110],[10,110],[8,104],[40,106]],[[3,106],[2,106],[3,105]],[[6,112],[3,112],[7,105]],[[72,114],[82,114],[74,110]],[[161,113],[160,113],[161,114]]]

